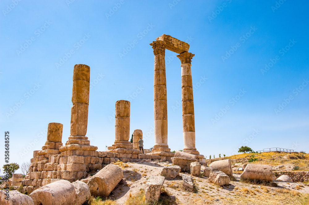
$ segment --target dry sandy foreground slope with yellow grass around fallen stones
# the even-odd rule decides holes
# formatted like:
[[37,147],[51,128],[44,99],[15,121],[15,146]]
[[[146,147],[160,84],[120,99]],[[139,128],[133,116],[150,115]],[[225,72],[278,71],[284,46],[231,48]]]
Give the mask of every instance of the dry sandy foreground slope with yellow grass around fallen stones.
[[[124,204],[132,195],[145,189],[147,178],[161,174],[164,166],[171,166],[169,162],[142,160],[134,163],[116,163],[124,170],[124,180],[110,194],[110,199],[117,204]],[[239,165],[240,166],[240,165]],[[204,169],[204,166],[201,168]],[[188,174],[188,173],[180,173]],[[308,204],[309,187],[301,182],[277,182],[277,187],[261,184],[239,182],[238,174],[234,174],[235,181],[229,186],[216,186],[208,182],[207,177],[193,177],[195,189],[193,192],[185,190],[182,178],[166,179],[164,182],[163,199],[166,204]]]

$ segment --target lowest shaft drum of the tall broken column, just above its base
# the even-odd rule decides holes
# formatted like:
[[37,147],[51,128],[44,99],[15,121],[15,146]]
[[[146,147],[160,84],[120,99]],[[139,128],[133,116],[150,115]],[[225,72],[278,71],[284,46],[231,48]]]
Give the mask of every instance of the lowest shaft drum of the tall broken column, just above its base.
[[71,136],[85,136],[87,133],[88,105],[75,103],[71,108]]

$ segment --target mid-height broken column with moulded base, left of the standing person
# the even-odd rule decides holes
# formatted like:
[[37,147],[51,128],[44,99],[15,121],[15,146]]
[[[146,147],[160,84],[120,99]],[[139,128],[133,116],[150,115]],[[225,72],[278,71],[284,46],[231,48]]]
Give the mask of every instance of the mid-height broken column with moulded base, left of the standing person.
[[130,102],[118,100],[115,110],[115,142],[109,149],[132,149],[130,139]]

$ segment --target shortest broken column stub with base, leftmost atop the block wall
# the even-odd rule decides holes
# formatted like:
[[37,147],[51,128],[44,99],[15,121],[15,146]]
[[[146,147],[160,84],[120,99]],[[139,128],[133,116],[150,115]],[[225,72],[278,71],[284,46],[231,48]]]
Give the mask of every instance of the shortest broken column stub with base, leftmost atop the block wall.
[[62,146],[62,129],[61,123],[51,122],[47,127],[47,141],[42,150],[59,150]]

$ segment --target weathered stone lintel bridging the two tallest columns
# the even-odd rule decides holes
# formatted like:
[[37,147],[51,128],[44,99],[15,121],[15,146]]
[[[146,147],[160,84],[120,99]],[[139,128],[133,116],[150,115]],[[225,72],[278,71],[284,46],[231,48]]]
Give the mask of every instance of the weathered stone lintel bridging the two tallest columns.
[[183,53],[189,50],[190,45],[186,42],[180,41],[170,35],[161,35],[156,40],[164,41],[166,43],[165,48],[175,53]]

